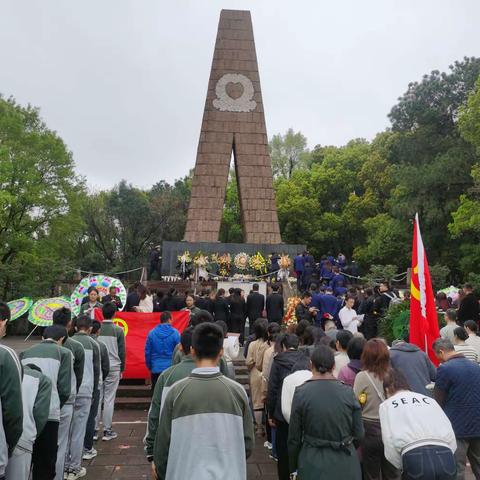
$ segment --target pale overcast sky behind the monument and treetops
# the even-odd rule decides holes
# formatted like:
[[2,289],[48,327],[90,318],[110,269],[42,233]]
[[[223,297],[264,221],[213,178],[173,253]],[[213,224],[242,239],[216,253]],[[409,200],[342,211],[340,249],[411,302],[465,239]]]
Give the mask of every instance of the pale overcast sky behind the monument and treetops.
[[371,139],[410,81],[480,55],[478,0],[0,0],[0,92],[41,108],[94,188],[195,155],[222,8],[248,9],[269,136]]

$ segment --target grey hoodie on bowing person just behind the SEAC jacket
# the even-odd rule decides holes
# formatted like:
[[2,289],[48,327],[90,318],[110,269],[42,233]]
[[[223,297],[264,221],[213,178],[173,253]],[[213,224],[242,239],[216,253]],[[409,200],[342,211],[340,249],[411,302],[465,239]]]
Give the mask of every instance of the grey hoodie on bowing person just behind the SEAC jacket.
[[424,351],[412,343],[399,342],[390,349],[390,362],[403,373],[413,392],[432,396],[425,386],[435,381],[437,372]]

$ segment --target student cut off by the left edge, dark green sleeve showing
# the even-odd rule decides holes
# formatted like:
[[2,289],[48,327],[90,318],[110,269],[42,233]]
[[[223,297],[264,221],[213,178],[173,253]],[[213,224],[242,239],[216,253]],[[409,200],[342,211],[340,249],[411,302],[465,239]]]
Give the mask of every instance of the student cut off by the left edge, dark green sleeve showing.
[[[10,309],[0,302],[0,340],[9,320]],[[0,479],[22,435],[22,420],[22,366],[17,354],[0,343]]]

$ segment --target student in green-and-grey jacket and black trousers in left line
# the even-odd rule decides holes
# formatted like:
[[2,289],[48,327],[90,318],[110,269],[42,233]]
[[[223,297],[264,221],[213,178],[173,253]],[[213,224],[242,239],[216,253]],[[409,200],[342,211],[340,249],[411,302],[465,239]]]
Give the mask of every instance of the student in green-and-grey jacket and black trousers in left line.
[[[60,409],[71,397],[74,377],[72,353],[61,346],[67,335],[66,328],[61,325],[47,327],[43,341],[20,354],[23,365],[36,365],[52,382],[48,420],[33,444],[32,480],[53,480],[56,476]],[[63,464],[61,462],[61,478]]]

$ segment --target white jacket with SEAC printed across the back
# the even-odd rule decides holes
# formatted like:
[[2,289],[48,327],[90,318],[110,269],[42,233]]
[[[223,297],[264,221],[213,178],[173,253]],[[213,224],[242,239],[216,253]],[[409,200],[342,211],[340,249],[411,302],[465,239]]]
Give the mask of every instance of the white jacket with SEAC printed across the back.
[[402,455],[425,445],[457,449],[452,424],[440,405],[430,397],[403,390],[380,405],[385,457],[402,468]]

